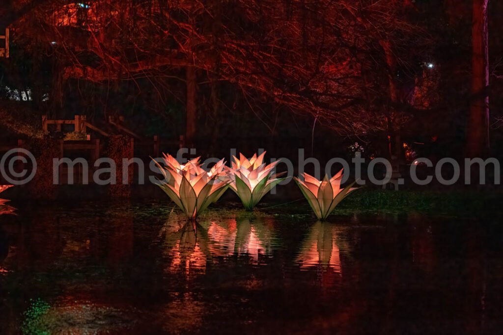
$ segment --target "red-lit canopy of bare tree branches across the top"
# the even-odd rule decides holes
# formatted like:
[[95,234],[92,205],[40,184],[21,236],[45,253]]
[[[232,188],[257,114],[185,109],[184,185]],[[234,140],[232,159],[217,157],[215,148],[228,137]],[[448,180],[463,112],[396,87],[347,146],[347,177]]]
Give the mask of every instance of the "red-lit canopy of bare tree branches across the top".
[[[404,131],[438,135],[454,114],[463,116],[454,125],[468,124],[471,5],[10,1],[0,26],[11,29],[15,56],[2,64],[0,91],[26,91],[54,113],[78,94],[80,105],[70,99],[66,109],[91,118],[133,110],[140,97],[156,111],[181,101],[188,137],[203,115],[218,124],[227,110],[249,110],[271,133],[279,113],[293,112],[343,135],[397,137],[399,146]],[[497,65],[488,70],[498,78]]]

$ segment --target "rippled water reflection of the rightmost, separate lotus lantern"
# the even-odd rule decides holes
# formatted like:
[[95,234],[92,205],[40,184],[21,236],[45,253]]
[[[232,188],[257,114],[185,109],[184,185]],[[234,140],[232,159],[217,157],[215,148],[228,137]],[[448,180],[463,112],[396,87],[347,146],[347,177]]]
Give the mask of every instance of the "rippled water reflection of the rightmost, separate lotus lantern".
[[302,243],[297,262],[301,269],[321,267],[342,274],[336,227],[317,221]]

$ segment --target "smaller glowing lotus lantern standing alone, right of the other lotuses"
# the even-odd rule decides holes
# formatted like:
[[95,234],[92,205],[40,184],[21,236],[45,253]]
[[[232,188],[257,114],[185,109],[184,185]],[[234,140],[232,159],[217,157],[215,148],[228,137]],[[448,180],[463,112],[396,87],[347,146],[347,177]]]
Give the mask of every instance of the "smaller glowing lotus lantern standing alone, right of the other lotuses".
[[357,189],[356,187],[351,187],[355,182],[341,189],[343,170],[330,179],[325,175],[325,178],[321,181],[307,173],[303,173],[302,176],[304,177],[304,181],[299,178],[295,178],[295,181],[309,202],[314,214],[320,220],[326,219],[349,193]]

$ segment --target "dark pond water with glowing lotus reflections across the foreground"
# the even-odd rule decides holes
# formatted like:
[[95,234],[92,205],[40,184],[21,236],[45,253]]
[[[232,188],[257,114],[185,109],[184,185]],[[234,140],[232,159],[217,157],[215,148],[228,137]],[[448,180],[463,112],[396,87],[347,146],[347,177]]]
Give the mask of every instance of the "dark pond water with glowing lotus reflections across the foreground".
[[[499,333],[503,225],[305,206],[16,204],[0,333]],[[239,208],[238,204],[233,208]]]

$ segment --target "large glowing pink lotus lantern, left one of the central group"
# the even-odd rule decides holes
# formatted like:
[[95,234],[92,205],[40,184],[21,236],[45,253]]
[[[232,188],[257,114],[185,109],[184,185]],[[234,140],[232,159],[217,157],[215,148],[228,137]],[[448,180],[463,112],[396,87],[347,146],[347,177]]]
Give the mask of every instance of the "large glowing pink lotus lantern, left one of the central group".
[[165,167],[156,162],[164,175],[164,180],[158,186],[191,220],[217,201],[228,184],[228,181],[223,180],[226,176],[223,160],[209,172],[201,168],[199,161],[199,158],[195,158],[182,165],[174,157],[164,155]]

